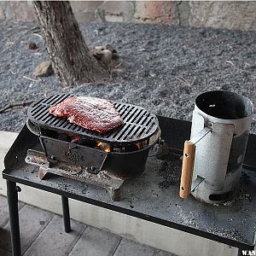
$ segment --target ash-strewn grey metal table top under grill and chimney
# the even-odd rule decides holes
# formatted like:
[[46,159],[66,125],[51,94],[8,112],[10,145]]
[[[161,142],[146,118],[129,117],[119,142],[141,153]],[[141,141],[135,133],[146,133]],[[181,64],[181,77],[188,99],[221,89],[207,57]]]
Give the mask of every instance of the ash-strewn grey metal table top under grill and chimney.
[[[159,119],[168,147],[180,153],[183,141],[189,138],[189,122]],[[253,249],[256,230],[256,172],[253,171],[256,165],[251,159],[251,149],[255,141],[255,136],[249,138],[245,166],[251,171],[243,170],[236,198],[218,206],[196,201],[192,196],[182,201],[178,195],[182,161],[177,154],[168,154],[161,159],[148,157],[143,175],[125,182],[123,201],[111,201],[105,189],[65,177],[40,180],[37,167],[26,165],[24,161],[28,148],[40,149],[38,137],[32,135],[26,126],[5,158],[3,178],[233,247]]]

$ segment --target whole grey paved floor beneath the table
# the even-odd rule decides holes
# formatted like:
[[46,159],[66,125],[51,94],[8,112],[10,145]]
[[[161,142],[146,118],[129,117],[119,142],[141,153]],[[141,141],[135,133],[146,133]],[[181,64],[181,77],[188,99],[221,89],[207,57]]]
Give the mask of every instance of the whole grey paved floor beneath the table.
[[[53,218],[54,215],[50,212],[23,206],[20,203],[20,239],[21,251],[25,252],[25,256],[176,256],[135,241],[120,241],[121,237],[93,227],[84,230],[84,224],[73,220],[73,231],[67,234],[62,217],[55,215]],[[8,221],[7,199],[0,196],[0,221],[6,214]],[[0,255],[11,256],[9,224],[4,229],[0,227],[0,237]]]

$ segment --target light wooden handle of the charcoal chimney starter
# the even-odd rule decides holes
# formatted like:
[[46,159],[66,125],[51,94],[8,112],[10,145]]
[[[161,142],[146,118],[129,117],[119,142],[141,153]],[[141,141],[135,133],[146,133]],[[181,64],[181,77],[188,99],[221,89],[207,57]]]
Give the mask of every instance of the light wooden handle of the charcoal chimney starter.
[[187,198],[191,192],[192,176],[195,162],[195,143],[185,141],[183,149],[183,167],[179,196]]

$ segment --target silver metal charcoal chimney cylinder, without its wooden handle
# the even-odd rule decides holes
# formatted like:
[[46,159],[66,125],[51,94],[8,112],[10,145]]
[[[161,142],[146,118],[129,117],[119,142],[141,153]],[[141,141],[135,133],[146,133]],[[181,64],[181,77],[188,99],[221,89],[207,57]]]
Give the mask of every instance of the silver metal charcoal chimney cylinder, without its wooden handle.
[[253,103],[245,96],[218,90],[196,98],[190,137],[212,129],[196,143],[192,180],[204,178],[191,192],[196,199],[215,204],[236,194],[252,118]]

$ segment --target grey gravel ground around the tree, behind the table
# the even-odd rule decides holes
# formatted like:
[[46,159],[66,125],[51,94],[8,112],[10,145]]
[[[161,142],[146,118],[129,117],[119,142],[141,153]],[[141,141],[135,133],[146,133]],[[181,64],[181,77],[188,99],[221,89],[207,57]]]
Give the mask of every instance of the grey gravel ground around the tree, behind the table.
[[[162,25],[80,24],[89,45],[112,44],[125,72],[108,85],[63,88],[55,75],[36,79],[35,67],[48,60],[37,23],[0,22],[0,108],[58,92],[80,93],[140,105],[153,113],[191,120],[195,97],[230,90],[256,106],[256,32]],[[40,32],[38,32],[40,33]],[[29,42],[38,50],[28,49]],[[32,81],[30,79],[36,79]],[[20,131],[26,108],[0,113],[0,130]],[[251,132],[256,133],[255,116]]]

